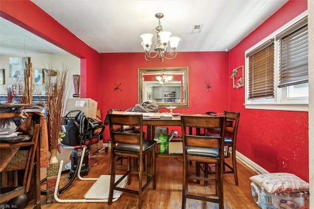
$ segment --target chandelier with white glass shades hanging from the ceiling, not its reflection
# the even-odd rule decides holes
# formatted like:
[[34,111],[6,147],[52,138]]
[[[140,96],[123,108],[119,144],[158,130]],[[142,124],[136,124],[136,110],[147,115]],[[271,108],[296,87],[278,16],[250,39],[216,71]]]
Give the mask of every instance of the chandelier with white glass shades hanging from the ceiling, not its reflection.
[[[143,41],[141,42],[141,45],[144,48],[145,59],[147,61],[152,61],[158,56],[160,61],[163,62],[163,58],[173,59],[177,56],[176,49],[181,39],[176,36],[170,37],[171,32],[162,30],[162,26],[160,25],[160,19],[163,18],[162,13],[157,13],[155,17],[158,18],[158,26],[153,29],[153,31],[157,34],[157,40],[154,43],[154,50],[156,51],[156,54],[155,55],[151,54],[151,49],[150,49],[152,45],[153,34],[151,33],[142,34],[140,36],[143,39]],[[170,52],[170,56],[167,57],[166,55],[167,55],[168,41],[170,42],[171,52]]]

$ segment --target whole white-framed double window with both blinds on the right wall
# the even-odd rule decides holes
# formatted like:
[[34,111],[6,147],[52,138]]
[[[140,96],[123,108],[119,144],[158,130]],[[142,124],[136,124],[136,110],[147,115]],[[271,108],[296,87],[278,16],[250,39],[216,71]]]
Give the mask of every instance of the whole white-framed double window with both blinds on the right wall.
[[308,12],[245,52],[245,107],[308,111]]

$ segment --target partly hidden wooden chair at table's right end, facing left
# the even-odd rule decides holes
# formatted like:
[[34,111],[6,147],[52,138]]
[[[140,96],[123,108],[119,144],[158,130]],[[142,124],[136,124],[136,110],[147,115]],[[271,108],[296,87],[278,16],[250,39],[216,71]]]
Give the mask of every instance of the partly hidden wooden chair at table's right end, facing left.
[[239,112],[229,112],[224,111],[224,116],[227,117],[227,120],[233,120],[233,126],[227,126],[226,127],[226,134],[225,134],[225,146],[232,148],[232,165],[228,164],[226,161],[224,161],[224,165],[227,166],[230,170],[225,170],[223,173],[233,173],[235,176],[235,185],[239,185],[237,180],[237,171],[236,171],[236,158],[235,158],[235,151],[236,151],[236,133],[237,133],[237,127],[240,120],[240,113]]

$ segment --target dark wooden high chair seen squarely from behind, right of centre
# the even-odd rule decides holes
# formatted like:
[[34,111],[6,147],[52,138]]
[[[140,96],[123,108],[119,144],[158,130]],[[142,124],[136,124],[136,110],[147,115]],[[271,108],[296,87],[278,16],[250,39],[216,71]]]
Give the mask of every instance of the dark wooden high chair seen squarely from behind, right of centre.
[[[224,208],[223,201],[223,161],[224,161],[224,136],[226,129],[226,116],[181,116],[183,137],[183,195],[182,208],[185,209],[186,199],[196,199],[219,204],[219,209]],[[207,136],[188,133],[188,130],[214,129],[219,130],[219,135]],[[215,178],[211,176],[192,176],[188,172],[189,161],[214,163],[216,165]],[[218,199],[197,196],[187,192],[188,180],[215,181],[215,195]]]

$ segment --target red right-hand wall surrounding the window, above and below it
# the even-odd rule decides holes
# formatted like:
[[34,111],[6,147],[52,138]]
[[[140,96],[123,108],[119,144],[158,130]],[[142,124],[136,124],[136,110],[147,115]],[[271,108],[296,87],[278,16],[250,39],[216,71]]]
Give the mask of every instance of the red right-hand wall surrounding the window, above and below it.
[[[246,50],[306,9],[306,0],[289,0],[230,51],[229,68],[245,65]],[[241,112],[237,151],[268,172],[294,173],[309,182],[308,112],[245,109],[244,88],[229,91],[230,109]],[[283,168],[283,157],[288,158],[288,170]]]

